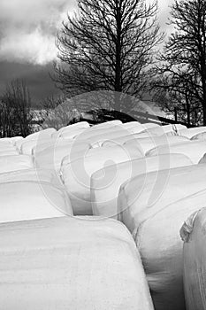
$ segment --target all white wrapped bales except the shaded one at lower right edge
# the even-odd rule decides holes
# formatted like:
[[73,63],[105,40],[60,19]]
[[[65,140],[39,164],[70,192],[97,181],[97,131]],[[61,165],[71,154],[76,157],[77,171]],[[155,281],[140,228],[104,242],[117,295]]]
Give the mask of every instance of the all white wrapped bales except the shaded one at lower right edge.
[[205,137],[115,120],[1,139],[2,307],[204,309]]

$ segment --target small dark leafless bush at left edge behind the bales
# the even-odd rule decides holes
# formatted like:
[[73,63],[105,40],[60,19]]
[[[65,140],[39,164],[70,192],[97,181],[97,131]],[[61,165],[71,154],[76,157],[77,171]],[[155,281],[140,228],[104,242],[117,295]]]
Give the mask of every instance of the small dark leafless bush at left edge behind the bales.
[[31,98],[24,81],[14,80],[1,97],[1,136],[27,136],[32,131]]

